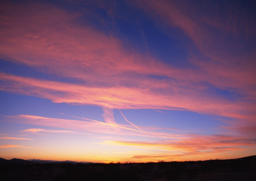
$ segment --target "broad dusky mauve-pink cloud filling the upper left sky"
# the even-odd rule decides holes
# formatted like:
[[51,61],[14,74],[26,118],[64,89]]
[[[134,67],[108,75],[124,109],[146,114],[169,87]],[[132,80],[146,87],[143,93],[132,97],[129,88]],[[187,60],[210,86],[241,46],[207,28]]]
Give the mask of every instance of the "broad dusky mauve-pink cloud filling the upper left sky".
[[79,14],[52,6],[21,7],[5,5],[3,9],[6,17],[1,20],[6,26],[0,47],[4,57],[88,84],[96,84],[95,80],[107,83],[108,76],[125,72],[162,75],[170,71],[150,57],[126,51],[120,41],[89,25],[74,24]]

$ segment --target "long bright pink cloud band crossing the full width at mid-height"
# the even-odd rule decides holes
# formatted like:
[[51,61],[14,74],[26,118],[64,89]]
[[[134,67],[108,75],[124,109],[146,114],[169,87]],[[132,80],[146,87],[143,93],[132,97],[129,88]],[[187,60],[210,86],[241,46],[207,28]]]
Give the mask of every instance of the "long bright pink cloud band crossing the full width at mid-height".
[[[0,73],[3,81],[0,90],[50,99],[55,103],[89,104],[111,109],[170,109],[190,110],[199,113],[217,114],[234,118],[248,118],[239,113],[244,109],[252,111],[246,103],[211,98],[199,92],[181,88],[174,94],[150,91],[134,87],[95,87],[57,81],[19,77]],[[192,90],[193,91],[193,90]],[[193,96],[190,94],[193,93]]]

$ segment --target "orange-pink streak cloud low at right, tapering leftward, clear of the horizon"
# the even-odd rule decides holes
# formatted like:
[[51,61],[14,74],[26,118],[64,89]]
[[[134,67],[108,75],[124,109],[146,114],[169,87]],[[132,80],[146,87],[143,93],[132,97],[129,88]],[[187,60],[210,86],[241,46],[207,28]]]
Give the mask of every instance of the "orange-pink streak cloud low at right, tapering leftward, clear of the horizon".
[[169,139],[152,142],[132,142],[132,141],[113,141],[106,140],[103,145],[118,145],[118,146],[139,146],[148,147],[148,149],[164,149],[168,151],[190,152],[224,152],[245,150],[245,148],[254,146],[256,140],[250,137],[234,137],[228,135],[209,135],[198,136],[190,135],[190,138],[185,139]]

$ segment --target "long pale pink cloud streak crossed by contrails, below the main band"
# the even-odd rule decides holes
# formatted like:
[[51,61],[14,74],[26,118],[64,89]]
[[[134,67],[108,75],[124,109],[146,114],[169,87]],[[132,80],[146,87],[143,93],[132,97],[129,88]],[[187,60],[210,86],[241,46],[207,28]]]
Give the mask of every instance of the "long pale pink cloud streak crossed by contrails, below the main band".
[[[141,131],[133,128],[130,125],[123,124],[112,124],[112,123],[104,123],[97,120],[92,120],[88,118],[79,118],[74,116],[75,118],[81,119],[79,120],[70,120],[70,119],[57,119],[57,118],[46,118],[41,116],[32,116],[32,115],[17,115],[15,116],[20,118],[17,119],[8,119],[9,122],[13,123],[22,123],[22,124],[32,124],[38,126],[50,126],[55,128],[69,129],[74,130],[74,132],[95,132],[95,133],[105,133],[105,134],[113,134],[113,135],[133,135],[133,136],[141,136],[141,137],[159,137],[159,138],[172,138],[172,139],[185,139],[185,135],[171,134],[171,133],[162,133],[162,132],[153,132],[152,128],[147,131],[146,127],[143,127],[145,131]],[[118,129],[117,129],[118,128]],[[161,128],[163,129],[163,128]],[[37,132],[43,131],[44,129],[27,129],[24,132]],[[157,129],[153,129],[157,130]],[[51,130],[45,130],[45,132],[51,132]],[[52,130],[55,132],[55,130]],[[58,131],[57,131],[58,132]],[[62,132],[62,131],[59,131]]]

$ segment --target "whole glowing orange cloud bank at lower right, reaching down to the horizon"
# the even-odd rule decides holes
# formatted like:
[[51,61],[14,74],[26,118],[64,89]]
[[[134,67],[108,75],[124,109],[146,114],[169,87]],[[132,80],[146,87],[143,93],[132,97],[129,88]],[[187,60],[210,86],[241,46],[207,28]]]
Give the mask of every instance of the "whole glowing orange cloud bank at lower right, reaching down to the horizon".
[[158,161],[158,160],[202,160],[207,157],[223,156],[230,152],[245,151],[254,148],[255,139],[251,137],[233,137],[229,135],[190,135],[188,139],[158,140],[158,141],[116,141],[105,140],[97,143],[108,146],[136,147],[143,150],[129,154],[128,160]]

